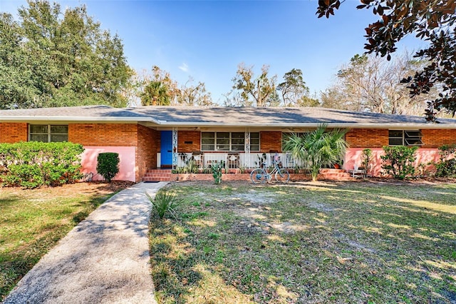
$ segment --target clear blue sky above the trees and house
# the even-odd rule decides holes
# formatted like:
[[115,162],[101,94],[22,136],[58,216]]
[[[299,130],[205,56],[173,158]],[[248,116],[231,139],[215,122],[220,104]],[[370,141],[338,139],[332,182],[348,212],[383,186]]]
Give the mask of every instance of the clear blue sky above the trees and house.
[[[179,83],[203,81],[214,101],[232,87],[237,65],[270,66],[279,81],[301,69],[311,93],[330,86],[341,64],[361,54],[364,28],[376,18],[347,0],[329,19],[317,19],[317,1],[58,1],[62,8],[86,4],[103,29],[123,39],[128,64],[137,71],[156,65]],[[23,0],[1,0],[16,14]],[[406,39],[400,49],[422,42]]]

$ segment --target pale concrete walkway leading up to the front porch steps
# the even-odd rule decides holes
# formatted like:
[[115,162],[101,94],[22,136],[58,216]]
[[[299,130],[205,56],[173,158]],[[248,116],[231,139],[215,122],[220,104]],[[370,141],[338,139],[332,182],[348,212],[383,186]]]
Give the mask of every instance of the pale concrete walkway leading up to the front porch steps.
[[150,275],[147,191],[116,194],[43,256],[11,292],[11,303],[156,303]]

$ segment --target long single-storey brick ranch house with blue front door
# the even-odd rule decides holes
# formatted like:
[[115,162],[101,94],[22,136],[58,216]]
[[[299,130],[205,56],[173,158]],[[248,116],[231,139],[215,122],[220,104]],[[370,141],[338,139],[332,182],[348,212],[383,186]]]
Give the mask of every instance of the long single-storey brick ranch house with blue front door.
[[[423,117],[359,113],[330,108],[236,108],[145,106],[111,108],[76,106],[0,111],[0,143],[71,141],[81,143],[83,172],[96,174],[101,152],[117,152],[116,179],[170,179],[154,176],[156,168],[178,168],[192,159],[200,168],[227,161],[229,168],[253,168],[259,158],[276,153],[283,166],[299,163],[282,150],[289,133],[348,128],[346,171],[361,165],[361,151],[371,148],[372,174],[380,174],[383,146],[420,146],[417,163],[438,159],[437,147],[456,143],[456,120],[427,123]],[[170,174],[170,173],[169,173]],[[152,176],[152,178],[150,178]]]

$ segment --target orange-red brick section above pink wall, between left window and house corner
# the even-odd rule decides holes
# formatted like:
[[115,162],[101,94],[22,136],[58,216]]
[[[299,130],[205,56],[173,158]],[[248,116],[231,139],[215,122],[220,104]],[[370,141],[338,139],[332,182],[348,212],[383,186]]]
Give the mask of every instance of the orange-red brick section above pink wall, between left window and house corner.
[[136,123],[70,123],[68,141],[83,146],[137,146]]

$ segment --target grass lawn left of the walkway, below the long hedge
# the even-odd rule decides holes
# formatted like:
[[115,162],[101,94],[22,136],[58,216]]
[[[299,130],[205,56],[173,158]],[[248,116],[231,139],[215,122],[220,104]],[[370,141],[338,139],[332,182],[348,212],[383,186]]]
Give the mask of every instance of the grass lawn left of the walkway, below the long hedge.
[[113,195],[103,187],[0,188],[0,300],[58,240]]

